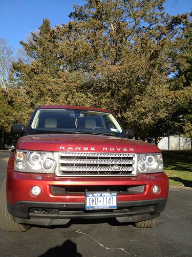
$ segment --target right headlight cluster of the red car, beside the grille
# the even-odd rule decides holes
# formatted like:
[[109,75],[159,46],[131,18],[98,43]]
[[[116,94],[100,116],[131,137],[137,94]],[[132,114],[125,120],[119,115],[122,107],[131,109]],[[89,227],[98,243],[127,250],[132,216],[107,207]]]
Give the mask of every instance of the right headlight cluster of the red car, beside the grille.
[[141,174],[163,172],[162,154],[139,154],[137,169]]

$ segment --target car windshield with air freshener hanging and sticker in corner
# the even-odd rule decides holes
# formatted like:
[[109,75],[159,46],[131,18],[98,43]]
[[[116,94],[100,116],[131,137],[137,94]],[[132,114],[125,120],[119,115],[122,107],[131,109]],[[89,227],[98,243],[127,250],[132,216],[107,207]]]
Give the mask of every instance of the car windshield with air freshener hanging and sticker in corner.
[[38,109],[30,133],[83,133],[125,137],[110,113],[80,109]]

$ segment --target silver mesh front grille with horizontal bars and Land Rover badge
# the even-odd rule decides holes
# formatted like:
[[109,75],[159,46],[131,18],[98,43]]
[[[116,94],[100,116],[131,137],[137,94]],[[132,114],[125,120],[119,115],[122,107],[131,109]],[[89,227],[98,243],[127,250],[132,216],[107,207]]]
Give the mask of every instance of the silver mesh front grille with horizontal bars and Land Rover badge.
[[136,154],[59,152],[57,176],[136,176]]

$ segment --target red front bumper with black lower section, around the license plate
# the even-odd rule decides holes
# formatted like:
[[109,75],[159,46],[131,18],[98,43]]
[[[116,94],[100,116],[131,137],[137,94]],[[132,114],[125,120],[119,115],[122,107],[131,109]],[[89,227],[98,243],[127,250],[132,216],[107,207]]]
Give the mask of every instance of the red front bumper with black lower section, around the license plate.
[[[158,185],[160,192],[153,194]],[[41,194],[33,197],[32,186]],[[86,211],[85,191],[118,192],[117,210]],[[36,225],[67,224],[71,218],[116,217],[119,222],[139,222],[159,216],[168,195],[168,178],[164,173],[136,177],[63,178],[53,174],[19,173],[8,169],[8,211],[15,222]]]

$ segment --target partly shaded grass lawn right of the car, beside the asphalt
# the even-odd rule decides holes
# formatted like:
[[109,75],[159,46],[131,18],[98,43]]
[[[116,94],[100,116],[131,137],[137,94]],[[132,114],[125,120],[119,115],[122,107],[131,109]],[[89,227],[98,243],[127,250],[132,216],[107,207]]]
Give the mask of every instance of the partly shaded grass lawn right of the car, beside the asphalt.
[[192,152],[162,151],[170,186],[192,187]]

